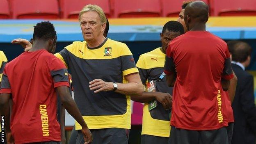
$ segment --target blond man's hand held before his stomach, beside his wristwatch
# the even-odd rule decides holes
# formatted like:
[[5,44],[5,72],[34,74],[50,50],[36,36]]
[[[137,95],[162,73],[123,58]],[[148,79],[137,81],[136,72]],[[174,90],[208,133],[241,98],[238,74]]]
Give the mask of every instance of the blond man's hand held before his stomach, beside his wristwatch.
[[101,79],[95,79],[89,82],[90,90],[95,90],[95,93],[100,91],[112,91],[114,89],[113,82],[105,82]]

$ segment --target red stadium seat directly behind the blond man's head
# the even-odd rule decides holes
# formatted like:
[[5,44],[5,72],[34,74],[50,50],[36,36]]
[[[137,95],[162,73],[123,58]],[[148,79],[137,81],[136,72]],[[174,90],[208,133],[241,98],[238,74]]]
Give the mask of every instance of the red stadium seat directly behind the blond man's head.
[[111,17],[109,0],[60,0],[62,18],[78,18],[82,8],[89,4],[100,6],[106,17]]

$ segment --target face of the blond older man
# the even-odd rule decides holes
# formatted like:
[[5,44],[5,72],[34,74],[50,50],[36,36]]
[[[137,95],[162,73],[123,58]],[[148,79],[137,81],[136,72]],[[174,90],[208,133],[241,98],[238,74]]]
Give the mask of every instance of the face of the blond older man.
[[101,18],[95,11],[88,11],[81,15],[80,27],[85,41],[95,41],[103,36],[105,23],[101,23]]

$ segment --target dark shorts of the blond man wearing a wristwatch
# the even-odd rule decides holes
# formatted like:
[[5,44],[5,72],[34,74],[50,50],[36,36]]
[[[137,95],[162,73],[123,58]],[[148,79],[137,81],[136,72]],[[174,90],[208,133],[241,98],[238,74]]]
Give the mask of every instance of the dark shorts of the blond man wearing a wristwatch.
[[[92,144],[128,144],[128,129],[123,128],[103,128],[91,129],[93,137]],[[72,130],[69,144],[84,144],[84,136],[81,130]]]

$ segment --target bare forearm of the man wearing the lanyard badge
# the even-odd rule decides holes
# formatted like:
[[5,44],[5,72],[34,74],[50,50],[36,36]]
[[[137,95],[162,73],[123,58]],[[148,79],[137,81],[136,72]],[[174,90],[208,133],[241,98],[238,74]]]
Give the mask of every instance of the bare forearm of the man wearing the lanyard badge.
[[155,100],[155,92],[143,91],[142,96],[131,96],[131,100],[140,103],[149,103],[150,101]]

